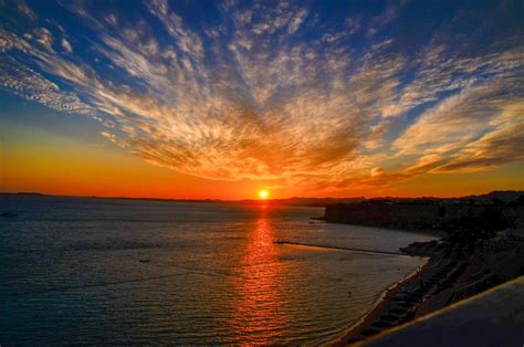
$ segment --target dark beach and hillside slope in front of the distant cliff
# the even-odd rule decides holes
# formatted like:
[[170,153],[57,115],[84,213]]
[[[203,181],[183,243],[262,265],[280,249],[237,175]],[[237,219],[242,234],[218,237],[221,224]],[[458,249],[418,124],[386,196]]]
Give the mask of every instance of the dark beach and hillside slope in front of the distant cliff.
[[522,274],[524,243],[497,236],[464,250],[457,243],[416,243],[402,249],[428,261],[386,290],[375,305],[335,346],[359,343]]

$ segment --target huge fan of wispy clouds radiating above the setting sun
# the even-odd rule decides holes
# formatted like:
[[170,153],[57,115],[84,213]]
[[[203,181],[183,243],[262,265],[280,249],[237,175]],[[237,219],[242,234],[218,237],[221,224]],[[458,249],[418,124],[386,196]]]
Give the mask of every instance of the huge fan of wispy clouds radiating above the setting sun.
[[522,159],[520,31],[479,55],[439,31],[407,52],[382,30],[404,6],[368,21],[344,13],[339,27],[297,2],[224,2],[205,23],[161,0],[133,15],[63,6],[88,32],[74,38],[84,46],[17,4],[32,24],[0,31],[1,87],[92,116],[156,165],[342,189]]

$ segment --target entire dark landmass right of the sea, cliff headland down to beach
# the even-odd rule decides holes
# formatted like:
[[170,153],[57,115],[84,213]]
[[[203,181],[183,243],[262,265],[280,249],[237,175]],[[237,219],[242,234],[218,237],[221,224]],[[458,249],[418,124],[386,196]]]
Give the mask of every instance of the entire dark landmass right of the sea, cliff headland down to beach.
[[442,234],[440,241],[400,249],[428,262],[389,288],[339,345],[366,340],[523,275],[523,202],[522,192],[499,192],[480,199],[379,199],[327,207],[328,222]]

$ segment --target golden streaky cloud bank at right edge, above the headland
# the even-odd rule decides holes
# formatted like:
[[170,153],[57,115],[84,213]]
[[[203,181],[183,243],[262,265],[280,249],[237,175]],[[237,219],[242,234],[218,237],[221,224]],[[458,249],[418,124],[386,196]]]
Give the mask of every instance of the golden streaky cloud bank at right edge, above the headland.
[[405,155],[437,157],[425,171],[474,172],[523,158],[522,76],[469,87],[425,113],[396,141]]

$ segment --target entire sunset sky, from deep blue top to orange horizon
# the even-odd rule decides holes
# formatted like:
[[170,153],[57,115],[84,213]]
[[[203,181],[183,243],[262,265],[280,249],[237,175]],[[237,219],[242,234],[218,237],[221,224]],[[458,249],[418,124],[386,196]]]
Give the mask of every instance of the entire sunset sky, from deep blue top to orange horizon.
[[524,190],[522,1],[0,0],[1,191]]

